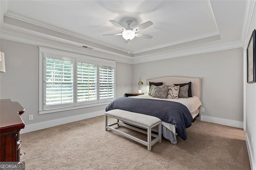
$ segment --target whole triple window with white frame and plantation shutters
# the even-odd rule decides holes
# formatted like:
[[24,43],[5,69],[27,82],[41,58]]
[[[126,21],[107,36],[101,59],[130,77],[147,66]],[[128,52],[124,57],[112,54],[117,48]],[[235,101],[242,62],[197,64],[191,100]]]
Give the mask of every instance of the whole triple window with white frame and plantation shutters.
[[108,104],[115,98],[115,63],[40,47],[39,88],[39,114]]

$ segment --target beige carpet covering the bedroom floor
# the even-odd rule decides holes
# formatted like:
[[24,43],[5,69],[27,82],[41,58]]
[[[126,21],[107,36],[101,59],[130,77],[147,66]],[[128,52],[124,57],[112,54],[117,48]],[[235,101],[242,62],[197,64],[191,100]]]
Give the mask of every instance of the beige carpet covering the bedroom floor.
[[[177,137],[174,145],[163,138],[150,152],[142,144],[105,131],[100,116],[21,134],[21,152],[26,152],[21,161],[26,170],[250,169],[242,129],[196,121],[186,132],[187,140]],[[137,136],[146,139],[144,134]]]

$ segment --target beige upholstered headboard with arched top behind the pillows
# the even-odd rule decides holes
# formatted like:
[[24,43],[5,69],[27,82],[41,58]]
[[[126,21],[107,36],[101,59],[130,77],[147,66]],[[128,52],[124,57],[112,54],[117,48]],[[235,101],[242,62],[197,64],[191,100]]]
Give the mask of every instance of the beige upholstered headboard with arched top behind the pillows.
[[[188,83],[191,81],[191,90],[192,95],[197,96],[201,101],[201,78],[190,78],[190,77],[159,77],[156,79],[147,79],[147,93],[149,91],[149,82],[163,82],[164,85],[173,85],[173,84],[180,84],[180,83]],[[199,108],[199,113],[201,117],[201,107]]]

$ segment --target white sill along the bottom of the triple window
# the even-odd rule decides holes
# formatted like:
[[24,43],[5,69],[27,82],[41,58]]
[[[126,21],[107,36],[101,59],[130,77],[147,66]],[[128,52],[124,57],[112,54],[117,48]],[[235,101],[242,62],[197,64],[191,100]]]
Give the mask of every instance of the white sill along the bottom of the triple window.
[[54,112],[62,112],[62,111],[69,111],[74,109],[82,109],[86,107],[94,107],[94,106],[101,106],[101,105],[108,105],[111,101],[102,102],[102,103],[94,103],[89,105],[80,105],[80,106],[72,106],[72,107],[62,107],[58,109],[48,109],[48,110],[41,110],[39,111],[39,115],[46,114],[46,113],[54,113]]

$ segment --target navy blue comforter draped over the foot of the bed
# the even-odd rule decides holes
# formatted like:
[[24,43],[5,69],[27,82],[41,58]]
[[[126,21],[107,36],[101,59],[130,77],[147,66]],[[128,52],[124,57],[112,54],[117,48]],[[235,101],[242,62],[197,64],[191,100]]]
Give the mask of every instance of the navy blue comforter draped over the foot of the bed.
[[142,113],[174,124],[177,133],[183,140],[187,139],[186,128],[190,127],[193,121],[188,108],[181,103],[173,101],[120,97],[106,107],[106,111],[113,109]]

